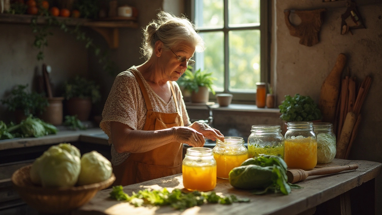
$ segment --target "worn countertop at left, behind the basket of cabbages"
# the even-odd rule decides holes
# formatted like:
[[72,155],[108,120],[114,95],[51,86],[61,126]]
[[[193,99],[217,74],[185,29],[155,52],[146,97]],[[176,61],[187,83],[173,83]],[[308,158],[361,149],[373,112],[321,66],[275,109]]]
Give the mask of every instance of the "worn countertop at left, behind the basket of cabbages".
[[0,150],[50,145],[63,142],[70,143],[76,141],[108,145],[108,137],[100,128],[90,128],[86,130],[60,129],[57,134],[50,134],[44,137],[19,137],[8,140],[0,140]]

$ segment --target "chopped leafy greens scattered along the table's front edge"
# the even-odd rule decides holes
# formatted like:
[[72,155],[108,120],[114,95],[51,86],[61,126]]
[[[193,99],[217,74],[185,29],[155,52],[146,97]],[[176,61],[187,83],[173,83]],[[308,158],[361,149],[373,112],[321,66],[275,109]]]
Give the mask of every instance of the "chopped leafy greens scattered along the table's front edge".
[[233,202],[249,202],[248,198],[238,198],[235,195],[218,195],[214,191],[210,192],[182,192],[180,189],[174,189],[169,192],[166,188],[162,191],[144,189],[133,192],[131,196],[123,191],[122,186],[114,186],[110,192],[110,198],[118,201],[125,200],[130,204],[139,207],[142,205],[170,205],[177,210],[202,205],[204,203],[232,204]]

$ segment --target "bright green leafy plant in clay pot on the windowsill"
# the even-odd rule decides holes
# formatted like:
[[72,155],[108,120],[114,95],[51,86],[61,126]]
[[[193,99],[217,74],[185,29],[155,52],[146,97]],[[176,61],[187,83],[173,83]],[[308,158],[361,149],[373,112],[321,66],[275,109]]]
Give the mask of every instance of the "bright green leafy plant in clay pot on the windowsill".
[[212,84],[216,78],[212,77],[212,73],[202,71],[201,69],[193,73],[190,68],[186,69],[186,72],[178,80],[178,84],[191,93],[191,102],[207,103],[209,99],[208,90],[215,94]]

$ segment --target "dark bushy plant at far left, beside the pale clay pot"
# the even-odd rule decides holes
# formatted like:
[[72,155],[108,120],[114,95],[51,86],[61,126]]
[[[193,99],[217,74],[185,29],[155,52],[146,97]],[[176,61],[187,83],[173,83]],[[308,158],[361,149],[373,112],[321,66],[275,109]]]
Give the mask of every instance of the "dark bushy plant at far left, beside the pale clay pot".
[[11,91],[8,98],[1,100],[3,104],[8,106],[8,111],[15,112],[16,123],[20,123],[30,114],[33,116],[42,114],[49,106],[47,98],[34,91],[28,92],[27,87],[28,84],[18,85]]

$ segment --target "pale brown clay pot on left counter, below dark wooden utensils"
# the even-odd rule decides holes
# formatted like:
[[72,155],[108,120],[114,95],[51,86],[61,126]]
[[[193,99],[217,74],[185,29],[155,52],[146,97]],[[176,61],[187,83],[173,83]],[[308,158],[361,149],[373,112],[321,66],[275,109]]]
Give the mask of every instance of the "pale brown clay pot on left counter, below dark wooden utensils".
[[39,118],[52,125],[61,125],[63,118],[62,100],[64,97],[48,98],[49,106]]

